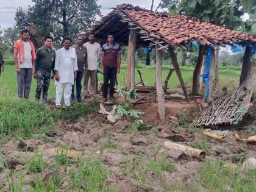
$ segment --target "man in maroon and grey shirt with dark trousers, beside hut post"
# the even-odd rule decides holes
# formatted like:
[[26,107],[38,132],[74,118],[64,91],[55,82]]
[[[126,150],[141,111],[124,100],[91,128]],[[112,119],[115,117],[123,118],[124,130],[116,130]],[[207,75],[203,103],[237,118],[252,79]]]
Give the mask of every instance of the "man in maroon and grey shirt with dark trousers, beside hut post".
[[120,73],[121,47],[114,41],[114,35],[108,34],[107,43],[101,48],[101,73],[104,74],[103,98],[101,102],[107,101],[108,80],[110,80],[110,102],[114,99],[114,87],[116,73]]

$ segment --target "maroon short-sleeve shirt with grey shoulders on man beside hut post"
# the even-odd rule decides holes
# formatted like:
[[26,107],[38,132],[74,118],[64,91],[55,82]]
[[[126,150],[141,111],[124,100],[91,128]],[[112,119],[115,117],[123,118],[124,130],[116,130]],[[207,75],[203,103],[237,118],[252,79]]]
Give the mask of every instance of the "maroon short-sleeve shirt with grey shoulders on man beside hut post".
[[103,65],[110,68],[118,67],[118,54],[121,53],[121,47],[118,43],[114,43],[112,47],[108,43],[103,44],[101,54],[104,55]]

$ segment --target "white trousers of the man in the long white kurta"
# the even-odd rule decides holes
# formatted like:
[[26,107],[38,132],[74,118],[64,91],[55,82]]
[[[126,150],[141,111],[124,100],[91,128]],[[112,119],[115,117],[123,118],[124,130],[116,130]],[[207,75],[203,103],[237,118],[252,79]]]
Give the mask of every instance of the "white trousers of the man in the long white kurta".
[[64,104],[65,106],[70,106],[70,98],[72,93],[71,83],[59,83],[56,85],[55,104],[60,106],[60,102],[62,101],[63,88],[64,88]]

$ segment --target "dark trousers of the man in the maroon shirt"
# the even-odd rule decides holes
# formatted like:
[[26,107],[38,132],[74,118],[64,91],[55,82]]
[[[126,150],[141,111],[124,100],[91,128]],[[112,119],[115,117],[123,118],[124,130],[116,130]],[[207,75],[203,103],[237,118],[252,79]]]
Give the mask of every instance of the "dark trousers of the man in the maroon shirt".
[[110,80],[110,97],[114,95],[117,68],[104,66],[103,98],[107,98],[108,80]]

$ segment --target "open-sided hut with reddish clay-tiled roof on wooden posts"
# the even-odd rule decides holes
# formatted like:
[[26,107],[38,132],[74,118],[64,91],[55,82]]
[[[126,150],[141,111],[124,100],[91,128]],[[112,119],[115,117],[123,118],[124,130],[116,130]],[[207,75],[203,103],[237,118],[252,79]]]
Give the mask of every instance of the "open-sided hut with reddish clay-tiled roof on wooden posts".
[[246,54],[240,77],[240,84],[249,72],[248,61],[252,49],[256,45],[256,37],[243,34],[224,26],[207,23],[190,16],[168,15],[166,13],[152,12],[151,10],[135,7],[130,4],[119,4],[112,8],[112,12],[102,17],[90,29],[96,34],[99,41],[107,40],[108,32],[115,34],[119,43],[128,45],[127,55],[127,89],[134,88],[135,76],[135,50],[138,46],[155,46],[156,50],[156,87],[158,96],[158,113],[160,119],[165,118],[165,99],[162,88],[162,52],[167,51],[171,55],[172,65],[179,77],[180,85],[185,97],[189,96],[180,73],[175,52],[175,46],[182,49],[189,48],[191,41],[200,44],[199,57],[194,70],[193,90],[199,87],[200,72],[207,55],[208,68],[205,80],[208,82],[206,99],[213,98],[213,73],[215,69],[215,52],[219,46],[246,46]]

